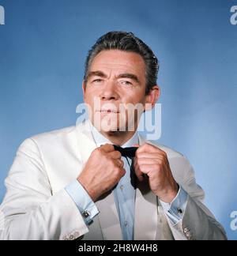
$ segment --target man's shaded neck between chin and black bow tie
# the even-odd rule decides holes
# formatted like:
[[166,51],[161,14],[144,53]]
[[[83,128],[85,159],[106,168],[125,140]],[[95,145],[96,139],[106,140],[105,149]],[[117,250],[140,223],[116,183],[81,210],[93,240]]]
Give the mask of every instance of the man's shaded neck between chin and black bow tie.
[[104,137],[106,137],[109,141],[111,141],[114,145],[123,145],[126,141],[129,141],[131,137],[134,136],[135,131],[109,131],[104,132],[100,131]]

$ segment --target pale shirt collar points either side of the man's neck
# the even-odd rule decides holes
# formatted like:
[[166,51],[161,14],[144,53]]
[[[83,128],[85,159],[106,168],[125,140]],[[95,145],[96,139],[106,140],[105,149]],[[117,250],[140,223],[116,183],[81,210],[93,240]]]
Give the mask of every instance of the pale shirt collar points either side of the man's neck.
[[[112,144],[112,142],[110,140],[107,139],[107,137],[104,137],[102,134],[100,134],[100,132],[96,129],[95,126],[92,125],[92,122],[90,122],[90,126],[91,126],[91,130],[92,130],[92,136],[96,142],[97,147],[100,147],[100,145],[104,145],[104,144]],[[138,133],[137,130],[135,132],[135,134],[133,135],[133,137],[130,138],[129,141],[126,141],[126,143],[124,143],[122,145],[123,148],[126,147],[132,147],[134,144],[138,144]]]

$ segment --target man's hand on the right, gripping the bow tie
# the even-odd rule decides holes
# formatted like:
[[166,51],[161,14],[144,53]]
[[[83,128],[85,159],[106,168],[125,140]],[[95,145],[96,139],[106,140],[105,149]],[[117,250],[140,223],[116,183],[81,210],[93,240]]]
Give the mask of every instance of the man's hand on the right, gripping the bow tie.
[[139,181],[144,179],[144,175],[148,176],[149,186],[160,200],[170,203],[178,194],[179,185],[163,150],[147,143],[141,145],[136,152],[134,170]]

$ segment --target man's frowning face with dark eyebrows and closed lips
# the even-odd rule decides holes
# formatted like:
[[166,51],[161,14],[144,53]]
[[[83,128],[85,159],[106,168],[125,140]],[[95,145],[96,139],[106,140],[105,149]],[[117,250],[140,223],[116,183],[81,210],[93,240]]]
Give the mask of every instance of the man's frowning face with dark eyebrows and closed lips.
[[[132,123],[136,129],[145,104],[157,99],[152,96],[154,92],[145,96],[145,62],[133,52],[101,51],[93,59],[86,80],[84,100],[98,130],[124,131],[133,127]],[[137,104],[140,108],[134,112]]]

